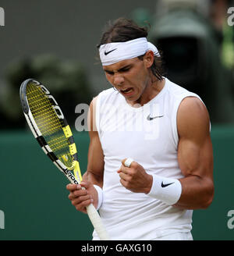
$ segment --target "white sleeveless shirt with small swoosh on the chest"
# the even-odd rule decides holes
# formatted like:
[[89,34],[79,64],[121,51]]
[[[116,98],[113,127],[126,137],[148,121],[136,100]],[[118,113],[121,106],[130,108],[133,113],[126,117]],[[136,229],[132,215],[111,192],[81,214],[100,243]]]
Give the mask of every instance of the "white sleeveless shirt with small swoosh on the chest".
[[[103,202],[99,213],[112,240],[153,240],[192,229],[192,210],[175,208],[120,183],[124,158],[133,158],[148,174],[180,179],[176,115],[180,102],[197,97],[165,78],[165,86],[147,104],[134,108],[113,88],[97,96],[96,123],[105,155]],[[93,240],[98,240],[94,231]]]

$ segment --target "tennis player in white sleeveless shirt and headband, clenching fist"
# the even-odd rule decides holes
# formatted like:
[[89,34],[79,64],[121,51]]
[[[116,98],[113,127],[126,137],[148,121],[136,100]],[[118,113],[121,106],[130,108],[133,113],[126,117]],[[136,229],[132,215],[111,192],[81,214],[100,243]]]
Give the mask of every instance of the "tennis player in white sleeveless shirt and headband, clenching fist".
[[163,76],[147,29],[131,20],[109,25],[98,49],[112,88],[90,104],[87,172],[67,185],[69,199],[80,212],[94,203],[112,240],[193,240],[193,209],[214,194],[207,108]]

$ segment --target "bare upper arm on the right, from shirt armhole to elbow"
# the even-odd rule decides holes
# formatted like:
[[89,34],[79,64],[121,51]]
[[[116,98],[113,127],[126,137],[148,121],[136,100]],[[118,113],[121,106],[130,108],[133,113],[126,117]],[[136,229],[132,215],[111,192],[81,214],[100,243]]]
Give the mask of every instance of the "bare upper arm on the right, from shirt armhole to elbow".
[[186,98],[177,116],[178,161],[184,176],[213,179],[213,151],[207,109],[198,98]]

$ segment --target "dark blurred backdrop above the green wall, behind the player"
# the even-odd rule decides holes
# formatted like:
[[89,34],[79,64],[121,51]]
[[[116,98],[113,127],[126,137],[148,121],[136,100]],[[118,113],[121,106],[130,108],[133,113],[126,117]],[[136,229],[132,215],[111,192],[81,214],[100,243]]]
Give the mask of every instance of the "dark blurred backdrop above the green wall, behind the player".
[[2,129],[23,128],[19,86],[29,77],[55,94],[74,125],[74,109],[109,85],[96,44],[108,20],[126,16],[151,24],[172,81],[200,95],[211,123],[234,123],[234,26],[232,1],[165,0],[84,2],[2,1],[0,119]]

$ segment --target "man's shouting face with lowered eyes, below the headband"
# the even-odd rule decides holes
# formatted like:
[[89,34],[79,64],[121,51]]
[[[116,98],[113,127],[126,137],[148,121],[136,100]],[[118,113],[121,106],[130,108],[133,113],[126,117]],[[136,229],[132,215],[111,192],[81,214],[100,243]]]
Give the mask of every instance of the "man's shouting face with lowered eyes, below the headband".
[[108,82],[127,101],[137,101],[144,93],[149,81],[148,67],[148,62],[145,59],[133,58],[103,66],[103,69],[105,70],[105,76]]

